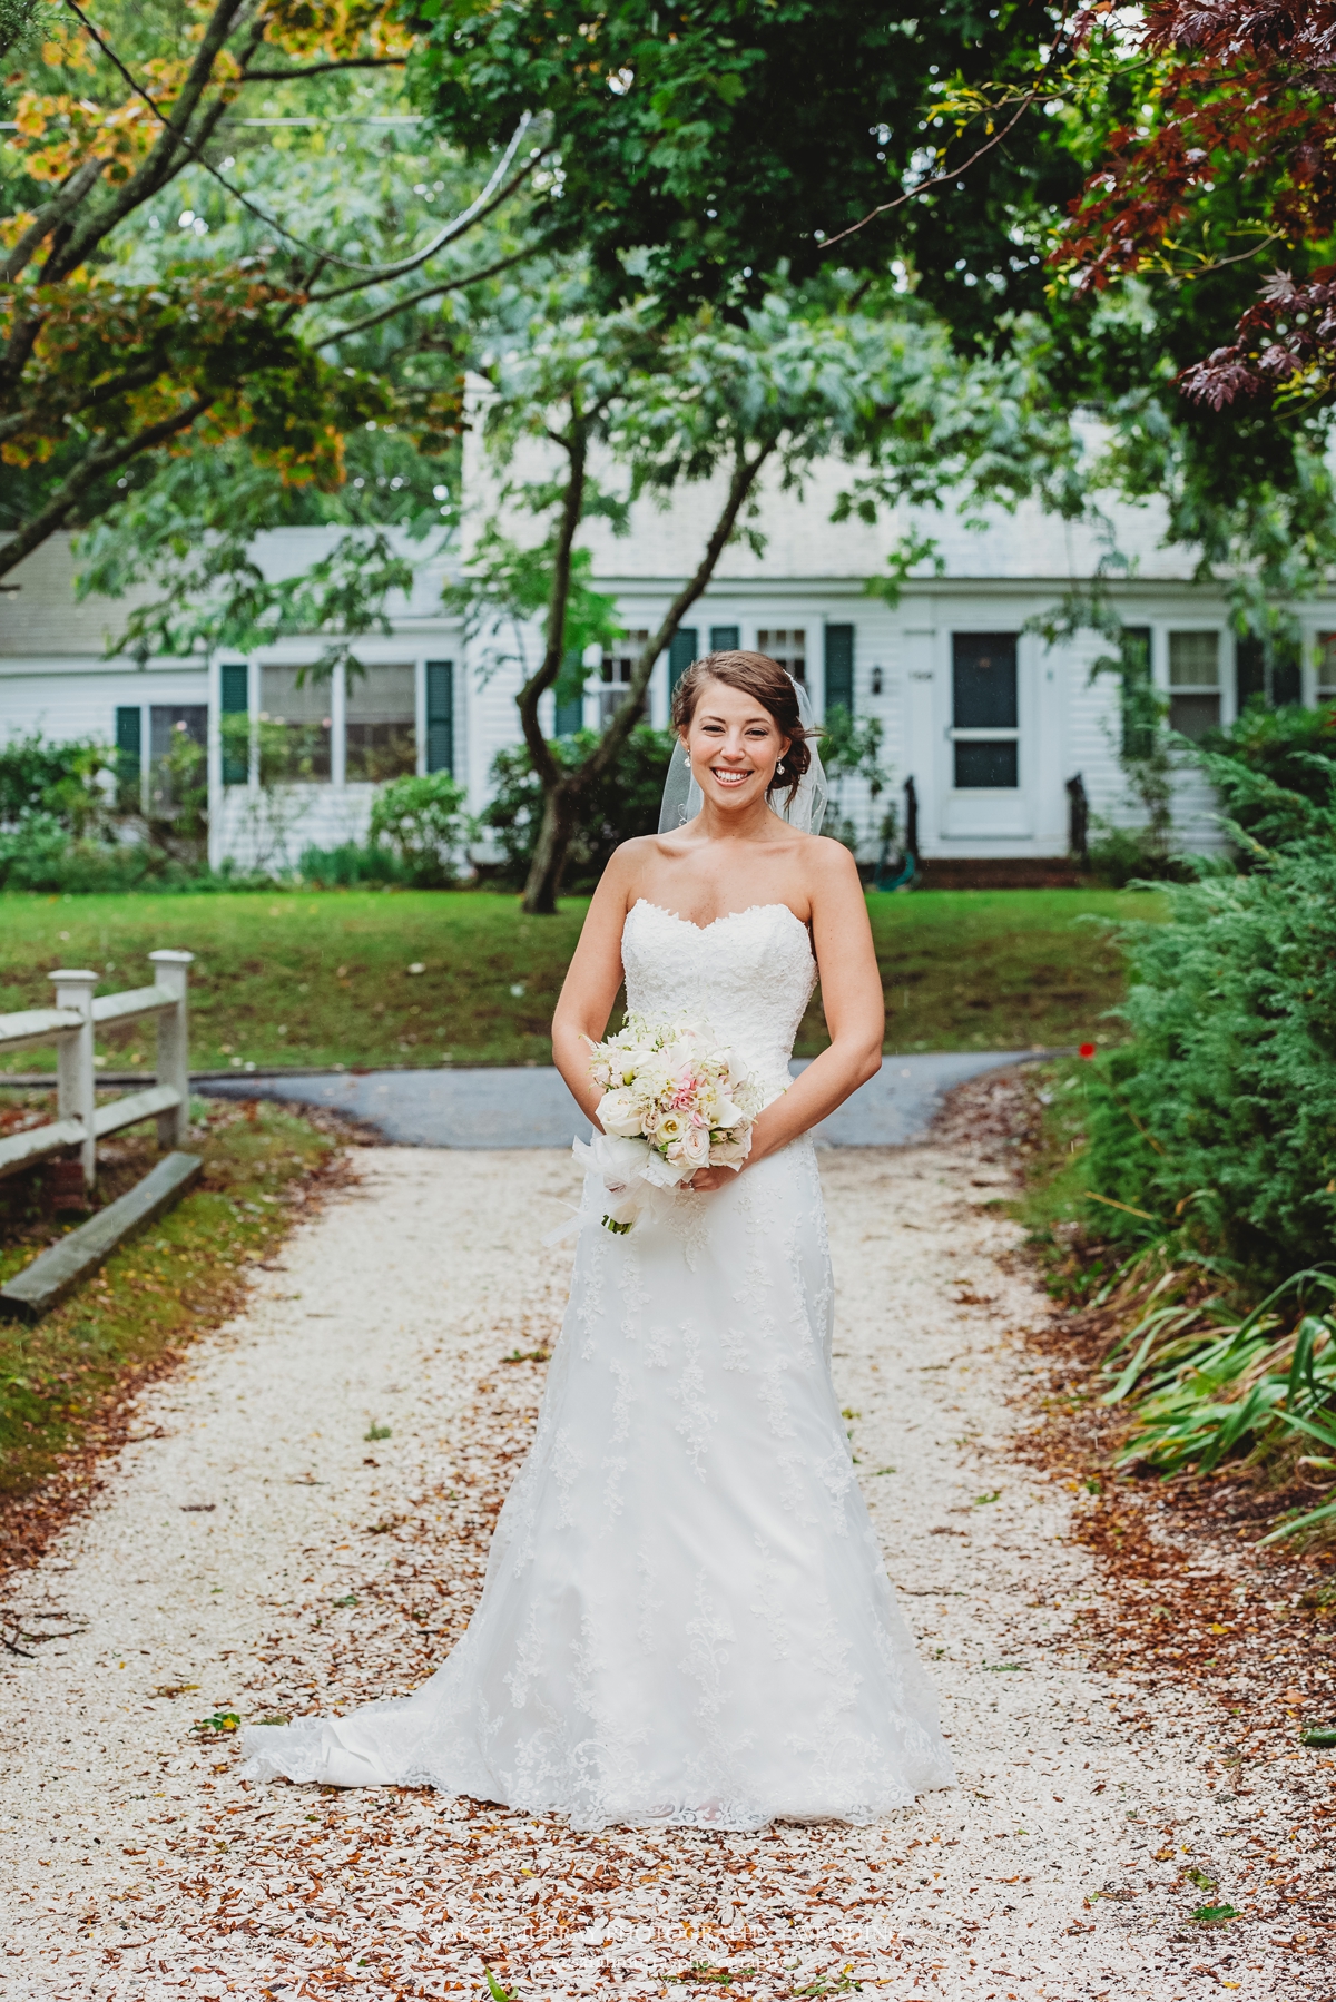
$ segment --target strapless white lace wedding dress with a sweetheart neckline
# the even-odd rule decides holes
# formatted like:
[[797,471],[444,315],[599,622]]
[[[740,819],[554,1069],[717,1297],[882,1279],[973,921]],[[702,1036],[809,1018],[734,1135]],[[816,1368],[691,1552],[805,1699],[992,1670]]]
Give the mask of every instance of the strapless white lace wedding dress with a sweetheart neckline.
[[[701,929],[637,903],[623,963],[633,1013],[705,1019],[785,1087],[815,985],[787,905]],[[871,1822],[949,1786],[831,1385],[831,1293],[807,1137],[629,1235],[595,1211],[467,1634],[411,1698],[248,1730],[246,1776],[575,1828]]]

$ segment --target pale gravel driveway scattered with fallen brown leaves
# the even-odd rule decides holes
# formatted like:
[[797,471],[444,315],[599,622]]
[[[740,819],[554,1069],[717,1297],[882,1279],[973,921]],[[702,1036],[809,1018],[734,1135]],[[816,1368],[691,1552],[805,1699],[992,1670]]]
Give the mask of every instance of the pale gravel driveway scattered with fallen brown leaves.
[[959,1788],[871,1830],[573,1836],[236,1780],[234,1738],[198,1720],[407,1692],[463,1630],[561,1317],[571,1253],[539,1239],[569,1157],[369,1149],[8,1590],[8,1998],[475,1998],[485,1966],[517,2002],[1330,1988],[1244,1922],[1192,1920],[1272,1812],[1208,1778],[1220,1712],[1082,1666],[1072,1497],[1010,1451],[1048,1309],[1008,1257],[1004,1171],[821,1159],[853,1451]]

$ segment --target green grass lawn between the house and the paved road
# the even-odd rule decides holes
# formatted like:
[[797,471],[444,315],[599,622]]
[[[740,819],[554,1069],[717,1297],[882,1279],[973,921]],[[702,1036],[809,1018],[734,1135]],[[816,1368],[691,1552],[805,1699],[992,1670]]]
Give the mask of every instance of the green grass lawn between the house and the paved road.
[[[887,1051],[1026,1049],[1110,1033],[1118,951],[1084,913],[1158,913],[1114,891],[869,895]],[[0,1013],[50,1001],[54,967],[142,985],[160,945],[190,969],[194,1069],[246,1063],[547,1063],[549,1021],[585,899],[525,917],[485,893],[0,897]],[[419,967],[421,971],[413,971]],[[825,1045],[819,1001],[799,1053]],[[108,1069],[152,1067],[142,1023],[100,1043]],[[20,1051],[10,1071],[54,1065]]]

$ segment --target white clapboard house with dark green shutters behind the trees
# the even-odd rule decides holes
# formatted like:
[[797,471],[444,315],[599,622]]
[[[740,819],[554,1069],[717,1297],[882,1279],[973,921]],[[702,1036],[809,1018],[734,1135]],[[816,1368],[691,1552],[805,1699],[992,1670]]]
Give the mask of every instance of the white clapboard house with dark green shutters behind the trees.
[[[995,859],[1024,869],[1064,857],[1068,785],[1078,775],[1094,813],[1132,823],[1120,683],[1090,673],[1108,643],[1084,631],[1050,647],[1030,629],[1098,573],[1106,541],[1036,505],[991,511],[983,529],[949,511],[837,527],[829,515],[839,478],[841,468],[823,466],[801,498],[761,496],[765,553],[743,545],[725,553],[655,667],[649,719],[667,723],[671,683],[697,653],[757,647],[807,683],[817,715],[839,701],[881,719],[893,787],[913,779],[927,861]],[[553,733],[597,727],[609,715],[637,645],[695,569],[715,507],[709,486],[685,488],[667,513],[637,507],[625,537],[591,525],[593,581],[615,597],[627,639],[589,663],[579,715],[575,707],[557,715],[547,699]],[[1192,581],[1192,551],[1162,547],[1158,509],[1112,507],[1108,519],[1132,561],[1108,593],[1144,643],[1170,721],[1190,737],[1232,721],[1256,665],[1230,631],[1224,593]],[[865,581],[885,571],[887,549],[911,527],[937,539],[941,575],[907,583],[891,609],[867,595]],[[322,529],[280,531],[260,539],[256,559],[270,575],[292,575],[330,539]],[[449,769],[477,809],[493,757],[519,735],[521,655],[533,661],[539,637],[465,641],[441,603],[449,557],[421,563],[413,593],[391,605],[391,637],[359,643],[365,677],[302,687],[298,671],[320,653],[314,637],[248,657],[138,663],[108,655],[126,605],[76,603],[72,569],[70,541],[56,537],[18,565],[8,579],[18,589],[0,597],[0,737],[96,735],[120,749],[122,773],[138,769],[150,785],[154,759],[172,729],[184,727],[208,743],[214,863],[230,855],[282,869],[306,845],[361,839],[377,783],[399,771]],[[1302,619],[1302,699],[1336,699],[1336,597],[1304,605]],[[302,785],[276,795],[258,785],[254,759],[224,757],[220,719],[242,711],[300,733]],[[847,787],[839,811],[873,853],[875,815],[859,787]],[[1186,847],[1218,839],[1210,795],[1192,773],[1180,781],[1176,825]]]

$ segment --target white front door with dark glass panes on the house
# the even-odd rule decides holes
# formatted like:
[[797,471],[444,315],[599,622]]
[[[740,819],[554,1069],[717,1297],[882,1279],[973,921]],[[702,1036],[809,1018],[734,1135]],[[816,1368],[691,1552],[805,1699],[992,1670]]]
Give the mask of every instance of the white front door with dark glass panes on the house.
[[949,677],[939,681],[941,839],[1026,841],[1030,745],[1020,633],[951,633]]

